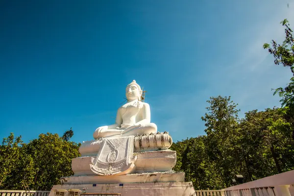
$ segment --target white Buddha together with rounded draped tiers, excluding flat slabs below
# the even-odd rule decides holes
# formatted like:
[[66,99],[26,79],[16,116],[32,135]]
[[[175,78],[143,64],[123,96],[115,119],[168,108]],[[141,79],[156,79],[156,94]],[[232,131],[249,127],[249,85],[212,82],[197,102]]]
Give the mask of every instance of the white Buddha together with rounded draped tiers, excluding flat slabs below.
[[172,137],[168,132],[156,133],[149,105],[141,102],[141,96],[141,87],[133,80],[126,87],[128,102],[119,108],[116,123],[98,127],[97,140],[79,147],[81,157],[72,160],[75,176],[172,170],[176,163],[175,151],[168,150]]

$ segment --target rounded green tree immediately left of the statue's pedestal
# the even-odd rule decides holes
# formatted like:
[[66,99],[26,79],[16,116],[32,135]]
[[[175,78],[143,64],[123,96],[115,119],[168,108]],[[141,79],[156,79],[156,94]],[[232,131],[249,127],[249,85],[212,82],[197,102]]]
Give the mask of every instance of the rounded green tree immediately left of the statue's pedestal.
[[26,146],[35,163],[34,189],[50,190],[54,184],[60,184],[62,176],[73,175],[72,159],[79,156],[74,142],[67,142],[58,134],[40,134],[38,139]]

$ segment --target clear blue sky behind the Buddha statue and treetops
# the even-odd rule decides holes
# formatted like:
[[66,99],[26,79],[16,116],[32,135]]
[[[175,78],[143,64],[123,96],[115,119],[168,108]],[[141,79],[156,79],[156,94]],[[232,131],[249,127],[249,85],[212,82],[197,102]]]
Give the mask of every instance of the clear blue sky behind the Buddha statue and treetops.
[[271,88],[291,73],[262,45],[283,40],[293,10],[294,0],[1,0],[0,138],[73,127],[73,141],[92,140],[133,79],[174,141],[204,134],[211,96],[231,96],[241,117],[280,106]]

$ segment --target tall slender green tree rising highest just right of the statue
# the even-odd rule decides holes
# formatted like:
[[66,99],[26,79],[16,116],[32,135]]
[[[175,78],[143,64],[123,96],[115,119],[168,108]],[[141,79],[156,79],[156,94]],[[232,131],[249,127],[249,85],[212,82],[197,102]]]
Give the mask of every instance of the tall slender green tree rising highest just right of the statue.
[[238,169],[238,152],[234,147],[240,110],[230,97],[211,97],[207,102],[210,103],[206,107],[208,112],[201,119],[206,126],[208,155],[219,168],[223,185],[228,187],[233,176],[241,172]]

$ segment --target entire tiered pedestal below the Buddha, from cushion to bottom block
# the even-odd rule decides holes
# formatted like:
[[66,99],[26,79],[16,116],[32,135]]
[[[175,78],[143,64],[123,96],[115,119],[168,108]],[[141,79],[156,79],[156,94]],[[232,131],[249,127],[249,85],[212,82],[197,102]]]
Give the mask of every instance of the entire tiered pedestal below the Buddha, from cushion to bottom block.
[[49,196],[196,196],[185,173],[172,171],[171,146],[167,132],[84,142],[74,175],[62,177]]

